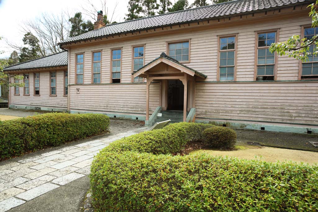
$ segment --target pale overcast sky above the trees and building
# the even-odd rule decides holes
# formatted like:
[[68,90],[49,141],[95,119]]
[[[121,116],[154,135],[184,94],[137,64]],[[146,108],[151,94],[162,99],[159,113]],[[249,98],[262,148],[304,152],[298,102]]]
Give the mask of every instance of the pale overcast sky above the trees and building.
[[[101,7],[100,0],[90,0],[97,8]],[[108,14],[114,10],[113,21],[122,22],[127,11],[128,0],[107,0]],[[189,0],[192,3],[194,0]],[[175,2],[172,0],[171,2]],[[24,33],[21,32],[23,21],[34,20],[42,13],[59,14],[61,11],[80,11],[87,0],[0,0],[0,37],[7,38],[11,42],[22,44]],[[102,9],[102,8],[100,8]],[[104,11],[105,14],[105,11]],[[8,58],[12,49],[7,48],[5,42],[0,41],[0,58]]]

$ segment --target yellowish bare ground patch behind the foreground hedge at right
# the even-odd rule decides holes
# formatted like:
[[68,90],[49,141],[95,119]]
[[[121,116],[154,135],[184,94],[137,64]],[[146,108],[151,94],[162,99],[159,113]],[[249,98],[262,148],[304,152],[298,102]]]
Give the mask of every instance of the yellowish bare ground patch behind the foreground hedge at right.
[[[238,150],[220,151],[210,149],[194,150],[190,154],[206,153],[212,156],[229,156],[247,160],[262,160],[267,162],[294,161],[304,162],[310,165],[318,165],[318,153],[293,149],[282,149],[273,147],[257,147],[251,145],[240,145]],[[316,163],[316,164],[315,164]]]

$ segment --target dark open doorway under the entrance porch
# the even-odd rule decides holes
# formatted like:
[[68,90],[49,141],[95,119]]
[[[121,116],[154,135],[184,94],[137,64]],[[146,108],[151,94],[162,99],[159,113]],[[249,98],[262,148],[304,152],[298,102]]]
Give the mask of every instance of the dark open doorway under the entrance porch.
[[183,110],[184,86],[180,80],[168,80],[167,110]]

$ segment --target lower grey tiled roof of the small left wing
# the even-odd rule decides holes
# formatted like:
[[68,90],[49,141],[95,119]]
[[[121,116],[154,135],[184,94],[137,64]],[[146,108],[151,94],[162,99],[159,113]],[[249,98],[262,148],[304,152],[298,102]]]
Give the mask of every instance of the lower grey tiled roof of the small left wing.
[[45,68],[67,65],[67,51],[51,54],[42,58],[29,60],[16,65],[10,65],[4,68],[4,71],[14,71],[21,69]]

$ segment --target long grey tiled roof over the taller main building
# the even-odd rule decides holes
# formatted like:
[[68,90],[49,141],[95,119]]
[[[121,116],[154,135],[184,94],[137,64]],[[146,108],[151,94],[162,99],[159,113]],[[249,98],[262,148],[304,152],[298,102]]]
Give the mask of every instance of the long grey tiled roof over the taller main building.
[[90,38],[99,38],[125,32],[151,29],[161,26],[169,26],[173,24],[181,24],[235,14],[237,15],[250,13],[256,10],[280,8],[291,4],[299,4],[312,1],[313,0],[234,0],[189,10],[181,10],[152,17],[139,18],[117,24],[110,24],[105,27],[101,27],[100,29],[68,38],[60,44],[86,40]]

